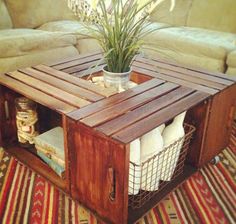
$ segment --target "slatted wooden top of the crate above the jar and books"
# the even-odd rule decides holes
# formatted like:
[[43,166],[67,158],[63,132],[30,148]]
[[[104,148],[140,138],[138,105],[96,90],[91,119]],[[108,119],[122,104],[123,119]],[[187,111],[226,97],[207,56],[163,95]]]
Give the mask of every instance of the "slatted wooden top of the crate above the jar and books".
[[0,74],[0,83],[62,114],[116,93],[45,65]]

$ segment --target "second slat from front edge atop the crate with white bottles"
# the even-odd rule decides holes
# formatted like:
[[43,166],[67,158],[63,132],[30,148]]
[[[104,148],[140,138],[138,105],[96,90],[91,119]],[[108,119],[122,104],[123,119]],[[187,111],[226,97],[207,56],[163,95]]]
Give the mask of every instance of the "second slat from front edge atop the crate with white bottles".
[[168,94],[161,96],[160,98],[154,99],[147,104],[128,111],[126,114],[98,126],[96,129],[110,136],[126,128],[127,126],[132,125],[133,123],[138,122],[147,116],[150,116],[158,110],[170,106],[172,103],[181,100],[183,97],[186,97],[194,91],[195,90],[181,86],[180,88],[175,89]]

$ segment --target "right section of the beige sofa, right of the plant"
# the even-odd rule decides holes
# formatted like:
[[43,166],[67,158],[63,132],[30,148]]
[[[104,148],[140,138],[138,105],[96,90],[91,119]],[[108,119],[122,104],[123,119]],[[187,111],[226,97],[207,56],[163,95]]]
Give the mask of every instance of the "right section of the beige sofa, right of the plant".
[[236,75],[236,1],[177,0],[172,12],[169,5],[167,0],[152,13],[151,21],[171,27],[149,35],[145,53]]

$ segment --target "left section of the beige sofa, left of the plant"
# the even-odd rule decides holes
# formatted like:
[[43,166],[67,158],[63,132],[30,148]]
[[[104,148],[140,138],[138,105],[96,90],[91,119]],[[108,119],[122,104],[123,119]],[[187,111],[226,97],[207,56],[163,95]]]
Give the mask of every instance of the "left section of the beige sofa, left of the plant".
[[78,55],[75,35],[37,29],[62,19],[74,19],[63,0],[0,0],[0,72]]

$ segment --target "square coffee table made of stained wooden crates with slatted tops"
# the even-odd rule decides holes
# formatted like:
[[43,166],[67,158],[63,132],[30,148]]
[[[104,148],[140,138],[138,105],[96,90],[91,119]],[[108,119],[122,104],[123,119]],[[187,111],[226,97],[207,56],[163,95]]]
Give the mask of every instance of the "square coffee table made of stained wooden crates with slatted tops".
[[[88,75],[100,58],[99,53],[84,55],[1,74],[0,146],[106,222],[133,223],[227,146],[236,80],[138,57],[132,80],[139,85],[116,94],[77,78]],[[42,132],[63,127],[65,179],[18,146],[14,100],[22,95],[38,103]],[[185,110],[185,121],[196,131],[180,175],[140,208],[130,207],[129,143]]]

